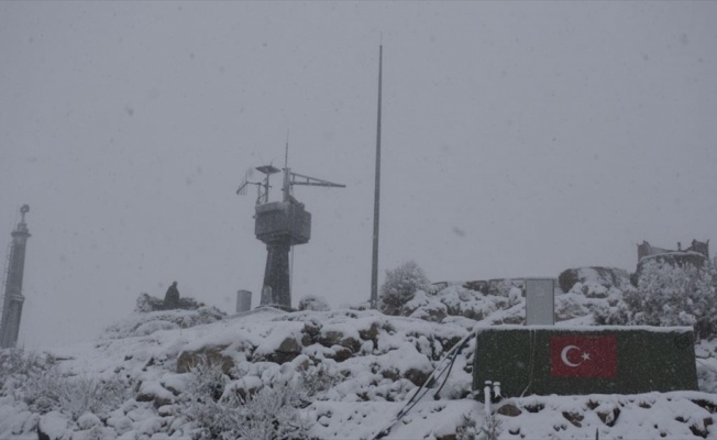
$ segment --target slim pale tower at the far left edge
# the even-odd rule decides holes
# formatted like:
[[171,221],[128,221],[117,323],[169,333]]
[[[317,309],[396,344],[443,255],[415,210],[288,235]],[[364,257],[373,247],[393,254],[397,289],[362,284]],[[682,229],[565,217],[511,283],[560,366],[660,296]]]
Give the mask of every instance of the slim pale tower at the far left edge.
[[18,344],[20,333],[20,318],[22,316],[22,304],[25,297],[22,295],[22,277],[25,270],[25,246],[30,232],[25,223],[25,213],[30,206],[23,205],[20,208],[20,223],[12,231],[10,253],[5,262],[4,297],[2,300],[2,320],[0,321],[0,348],[14,348]]

